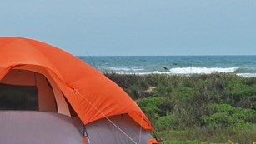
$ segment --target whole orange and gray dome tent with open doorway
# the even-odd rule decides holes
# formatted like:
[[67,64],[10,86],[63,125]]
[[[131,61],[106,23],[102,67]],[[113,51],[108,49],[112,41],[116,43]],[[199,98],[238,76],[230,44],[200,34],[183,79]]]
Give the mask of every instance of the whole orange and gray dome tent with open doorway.
[[136,102],[78,57],[0,37],[0,143],[158,144],[151,131]]

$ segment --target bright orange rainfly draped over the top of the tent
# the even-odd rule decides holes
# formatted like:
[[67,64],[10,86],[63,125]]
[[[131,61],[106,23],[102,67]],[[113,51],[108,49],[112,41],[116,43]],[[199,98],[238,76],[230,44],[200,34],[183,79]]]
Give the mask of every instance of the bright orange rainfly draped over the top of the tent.
[[56,83],[83,124],[128,113],[144,129],[148,118],[121,87],[95,68],[44,42],[22,37],[0,37],[0,79],[11,69],[38,72]]

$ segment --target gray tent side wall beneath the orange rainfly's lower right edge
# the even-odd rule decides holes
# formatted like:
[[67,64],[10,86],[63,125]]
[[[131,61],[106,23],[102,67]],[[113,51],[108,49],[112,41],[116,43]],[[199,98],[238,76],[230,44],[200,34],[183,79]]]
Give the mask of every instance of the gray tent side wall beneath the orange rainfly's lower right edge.
[[[109,119],[120,127],[129,137],[131,137],[134,142],[120,132],[117,127],[114,127],[113,124],[108,122],[106,118],[103,118],[98,121],[88,123],[85,126],[91,143],[134,144],[136,142],[138,144],[146,144],[148,143],[148,140],[152,139],[150,132],[141,129],[141,127],[134,122],[128,114],[112,116],[109,117]],[[78,117],[73,117],[73,122],[77,127],[79,127],[79,131],[82,132],[83,125],[79,122]],[[88,139],[86,143],[88,143]]]

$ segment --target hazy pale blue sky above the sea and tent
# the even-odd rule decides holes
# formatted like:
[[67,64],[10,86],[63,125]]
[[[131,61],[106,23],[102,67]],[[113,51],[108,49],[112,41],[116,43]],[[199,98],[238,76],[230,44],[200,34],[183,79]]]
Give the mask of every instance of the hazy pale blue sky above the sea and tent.
[[256,1],[8,0],[0,36],[77,56],[256,55]]

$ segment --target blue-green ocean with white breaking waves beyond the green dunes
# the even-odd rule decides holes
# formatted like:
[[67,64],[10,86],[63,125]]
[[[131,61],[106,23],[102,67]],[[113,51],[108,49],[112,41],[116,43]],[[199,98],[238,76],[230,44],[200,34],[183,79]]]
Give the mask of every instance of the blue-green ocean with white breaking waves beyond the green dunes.
[[78,56],[101,72],[120,74],[235,73],[256,77],[256,56]]

